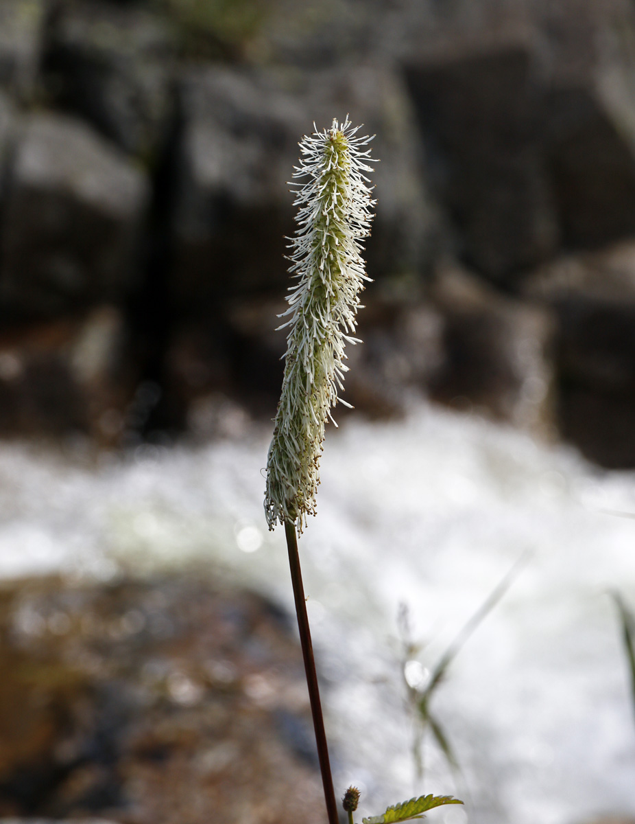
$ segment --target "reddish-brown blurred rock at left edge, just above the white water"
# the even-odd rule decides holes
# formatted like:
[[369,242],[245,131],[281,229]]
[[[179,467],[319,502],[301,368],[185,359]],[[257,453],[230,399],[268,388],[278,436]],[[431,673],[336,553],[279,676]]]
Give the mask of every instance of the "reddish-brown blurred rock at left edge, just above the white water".
[[134,380],[112,307],[0,335],[0,434],[90,433],[114,443]]

